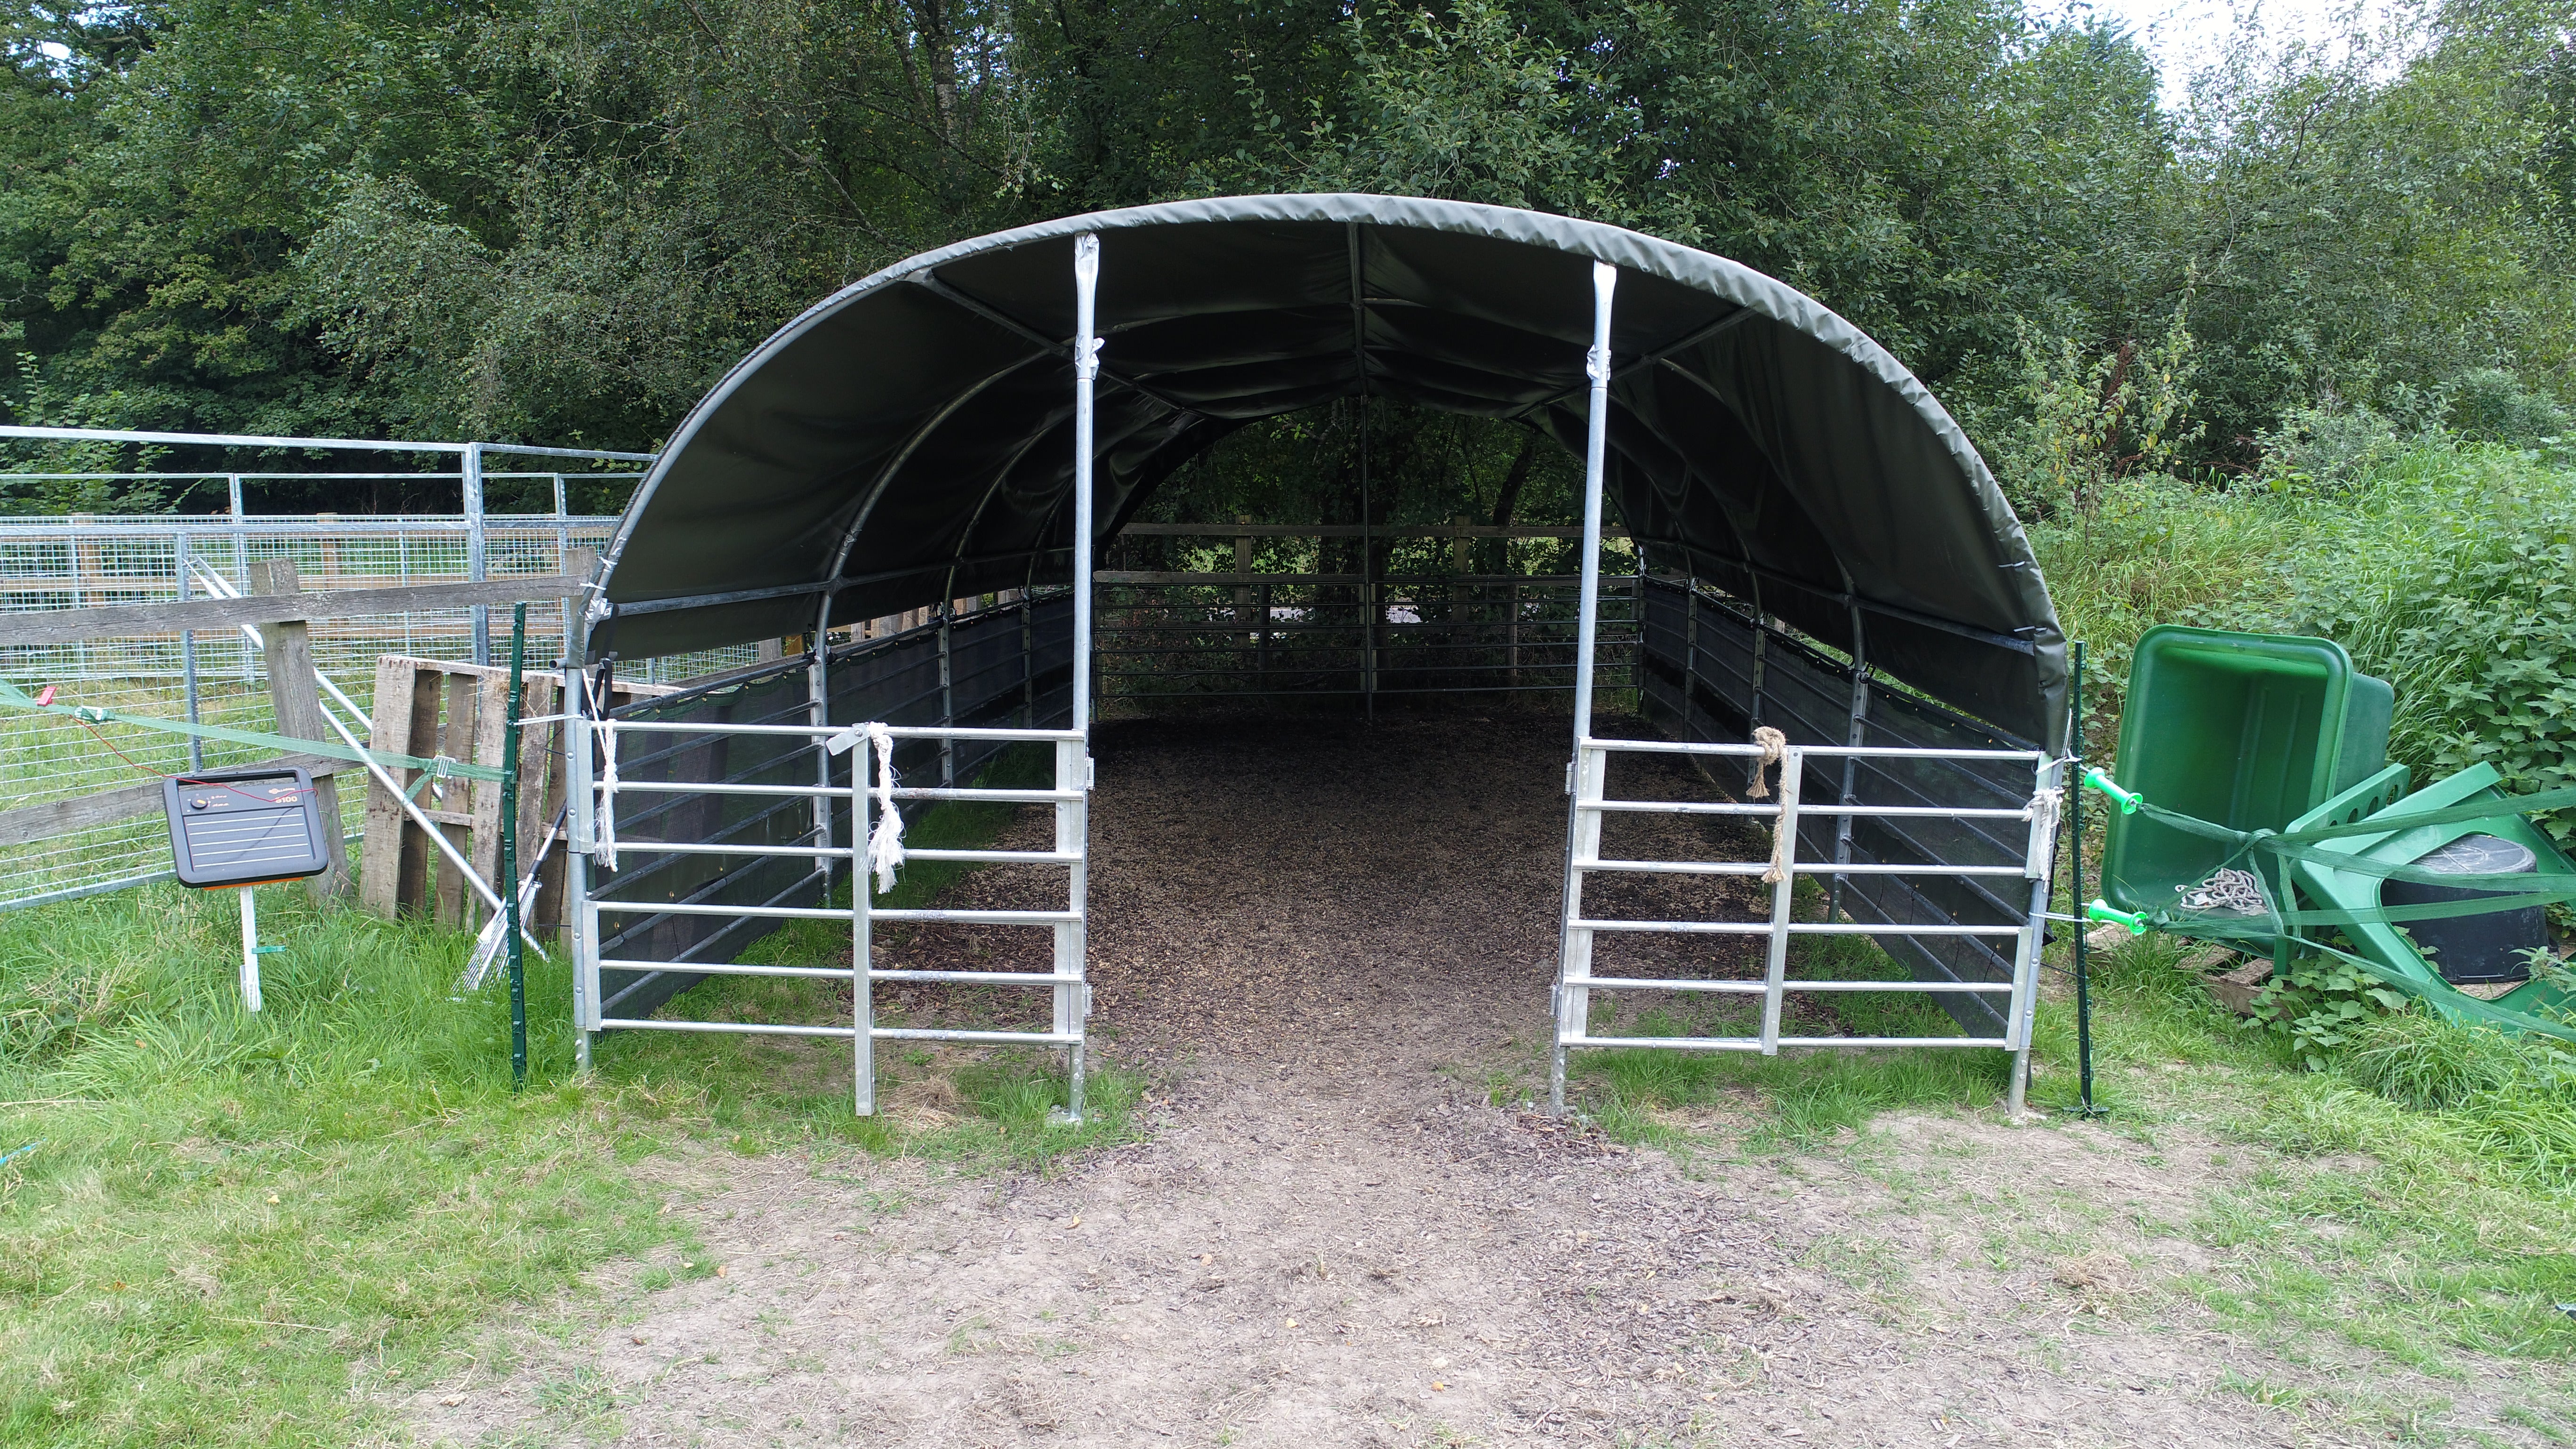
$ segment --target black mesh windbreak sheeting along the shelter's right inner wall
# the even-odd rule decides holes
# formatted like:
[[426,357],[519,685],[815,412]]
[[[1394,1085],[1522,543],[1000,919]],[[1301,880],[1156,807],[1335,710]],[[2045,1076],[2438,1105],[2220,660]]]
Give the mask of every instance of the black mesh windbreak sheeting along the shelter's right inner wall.
[[[1759,691],[1754,642],[1759,639]],[[1646,580],[1643,694],[1649,709],[1682,740],[1747,743],[1757,724],[1793,745],[1852,743],[1852,665],[1767,624],[1741,603],[1674,580]],[[1917,750],[2030,750],[2027,740],[1953,714],[1873,681],[1862,745]],[[1731,789],[1744,781],[1728,779]],[[1937,804],[1953,810],[2020,810],[2030,802],[2032,766],[2022,761],[1811,761],[1801,804]],[[1857,817],[1855,864],[2020,866],[2030,828],[2020,820]],[[1803,815],[1801,861],[1834,861],[1839,841],[1829,815]],[[2020,926],[2030,918],[2022,877],[1842,877],[1842,910],[1862,923]],[[1878,946],[1914,980],[2012,982],[2002,938],[1878,936]],[[1935,998],[1971,1036],[2004,1034],[1996,995]]]

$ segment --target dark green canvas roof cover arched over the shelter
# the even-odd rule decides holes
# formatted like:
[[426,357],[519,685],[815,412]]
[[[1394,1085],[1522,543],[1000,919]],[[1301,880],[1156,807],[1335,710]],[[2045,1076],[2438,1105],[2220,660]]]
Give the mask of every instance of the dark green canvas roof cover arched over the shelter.
[[1399,196],[1066,217],[896,263],[778,330],[688,415],[603,559],[626,657],[1066,583],[1074,237],[1100,235],[1105,541],[1229,431],[1386,394],[1582,451],[1595,260],[1607,505],[1698,572],[2025,740],[2066,645],[2020,521],[1886,348],[1752,268],[1595,222]]

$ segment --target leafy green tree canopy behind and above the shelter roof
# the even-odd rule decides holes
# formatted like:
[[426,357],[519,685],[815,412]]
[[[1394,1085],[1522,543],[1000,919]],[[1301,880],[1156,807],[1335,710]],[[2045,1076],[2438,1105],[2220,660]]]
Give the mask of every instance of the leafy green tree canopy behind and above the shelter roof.
[[[1770,271],[2048,511],[2354,415],[2558,425],[2571,13],[2246,34],[2166,108],[2020,0],[5,0],[0,407],[647,449],[902,255],[1388,191]],[[1448,451],[1484,482],[1437,508],[1492,511],[1517,441]]]

